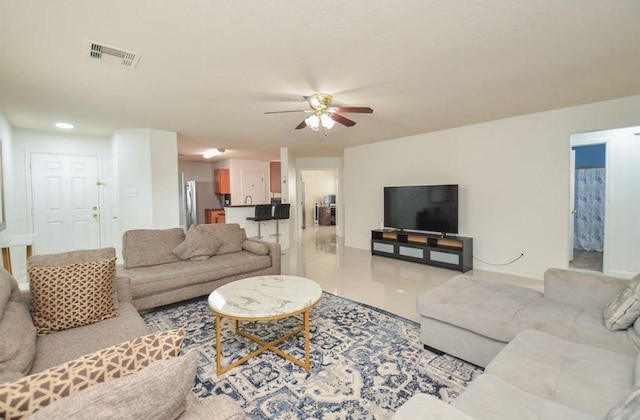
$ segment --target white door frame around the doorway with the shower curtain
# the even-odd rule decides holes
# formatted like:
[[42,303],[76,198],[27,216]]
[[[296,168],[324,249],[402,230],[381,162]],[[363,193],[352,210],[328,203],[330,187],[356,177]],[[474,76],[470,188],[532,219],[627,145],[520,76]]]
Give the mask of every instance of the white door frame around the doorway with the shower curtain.
[[[610,271],[610,263],[609,263],[609,251],[608,251],[608,232],[610,232],[609,226],[609,203],[610,197],[609,194],[611,192],[611,153],[609,147],[611,146],[612,136],[608,134],[608,131],[611,130],[603,130],[592,133],[576,133],[570,136],[569,141],[569,152],[573,151],[574,147],[580,146],[594,146],[597,144],[604,144],[605,147],[605,187],[604,187],[604,239],[602,244],[602,272],[608,273]],[[584,138],[583,138],[584,136]],[[575,171],[575,162],[570,166],[570,171]],[[572,185],[569,186],[572,188]],[[569,200],[574,200],[574,196],[570,194]],[[569,208],[573,210],[574,201],[569,203]],[[570,216],[572,216],[570,214]],[[573,219],[573,218],[572,218]],[[570,246],[573,246],[573,238],[569,238]],[[572,249],[573,252],[573,249]],[[568,265],[568,261],[567,261]]]

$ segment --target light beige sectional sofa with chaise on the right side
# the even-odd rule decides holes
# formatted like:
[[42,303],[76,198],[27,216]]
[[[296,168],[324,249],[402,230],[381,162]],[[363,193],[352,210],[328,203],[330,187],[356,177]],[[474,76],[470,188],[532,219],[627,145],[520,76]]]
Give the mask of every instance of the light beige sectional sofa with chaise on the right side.
[[[640,278],[550,269],[544,280],[542,294],[458,276],[421,295],[425,346],[486,369],[451,405],[419,394],[394,418],[596,419],[618,418],[625,409],[638,415],[640,320],[610,331],[603,313],[623,289],[633,298]],[[637,317],[635,298],[623,316]]]

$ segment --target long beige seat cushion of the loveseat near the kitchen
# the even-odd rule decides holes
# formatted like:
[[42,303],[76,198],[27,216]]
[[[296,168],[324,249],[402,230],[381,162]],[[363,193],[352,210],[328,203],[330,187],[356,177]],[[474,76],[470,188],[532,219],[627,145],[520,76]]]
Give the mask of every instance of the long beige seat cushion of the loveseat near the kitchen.
[[122,270],[120,273],[131,278],[131,290],[133,295],[139,298],[269,267],[271,267],[269,256],[240,251],[215,255],[206,261],[178,261],[153,267]]

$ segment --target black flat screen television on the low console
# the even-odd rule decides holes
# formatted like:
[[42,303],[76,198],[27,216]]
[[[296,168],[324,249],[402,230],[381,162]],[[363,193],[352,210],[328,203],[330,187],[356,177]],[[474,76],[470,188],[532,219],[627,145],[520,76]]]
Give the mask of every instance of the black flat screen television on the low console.
[[458,186],[384,187],[384,225],[395,229],[458,233]]

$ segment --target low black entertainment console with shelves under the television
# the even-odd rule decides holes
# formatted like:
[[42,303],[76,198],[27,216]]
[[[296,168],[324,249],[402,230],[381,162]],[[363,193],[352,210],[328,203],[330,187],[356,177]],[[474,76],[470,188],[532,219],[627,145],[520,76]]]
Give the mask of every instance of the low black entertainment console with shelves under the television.
[[473,238],[376,229],[371,254],[465,273],[473,269]]

